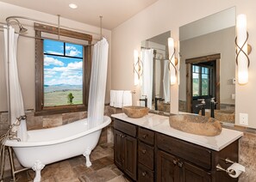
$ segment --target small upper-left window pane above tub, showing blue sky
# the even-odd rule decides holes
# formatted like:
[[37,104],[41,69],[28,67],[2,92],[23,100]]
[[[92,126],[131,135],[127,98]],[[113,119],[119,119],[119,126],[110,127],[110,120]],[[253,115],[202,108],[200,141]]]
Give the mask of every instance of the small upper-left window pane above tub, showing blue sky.
[[44,39],[44,53],[64,55],[64,43],[51,39]]

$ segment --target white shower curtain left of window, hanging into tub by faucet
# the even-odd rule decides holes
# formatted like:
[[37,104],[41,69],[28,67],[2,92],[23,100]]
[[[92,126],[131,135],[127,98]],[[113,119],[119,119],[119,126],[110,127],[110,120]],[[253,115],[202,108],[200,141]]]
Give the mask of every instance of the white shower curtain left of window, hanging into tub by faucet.
[[[17,68],[17,43],[19,35],[15,33],[13,27],[4,27],[4,62],[6,72],[6,85],[9,98],[10,124],[16,122],[16,118],[25,115],[22,99],[22,90],[19,82]],[[27,124],[22,120],[19,126],[15,126],[12,131],[17,131],[17,137],[22,141],[27,141]]]

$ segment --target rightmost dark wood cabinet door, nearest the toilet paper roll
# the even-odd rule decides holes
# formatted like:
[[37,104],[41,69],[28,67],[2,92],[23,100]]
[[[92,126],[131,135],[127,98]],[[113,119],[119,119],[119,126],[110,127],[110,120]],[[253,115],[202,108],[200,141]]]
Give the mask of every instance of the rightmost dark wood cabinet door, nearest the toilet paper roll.
[[180,162],[180,167],[182,167],[183,175],[182,178],[184,182],[210,182],[210,173],[204,171],[201,168],[195,167],[187,162]]

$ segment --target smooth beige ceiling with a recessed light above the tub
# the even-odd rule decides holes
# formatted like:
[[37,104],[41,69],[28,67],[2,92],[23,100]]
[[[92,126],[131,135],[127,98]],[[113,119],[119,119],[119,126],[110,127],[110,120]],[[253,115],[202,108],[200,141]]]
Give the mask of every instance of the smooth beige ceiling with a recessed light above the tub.
[[[99,16],[103,15],[103,28],[118,27],[142,9],[158,0],[0,0],[28,9],[51,15],[60,15],[73,21],[99,27]],[[75,3],[78,9],[70,9],[68,4]]]

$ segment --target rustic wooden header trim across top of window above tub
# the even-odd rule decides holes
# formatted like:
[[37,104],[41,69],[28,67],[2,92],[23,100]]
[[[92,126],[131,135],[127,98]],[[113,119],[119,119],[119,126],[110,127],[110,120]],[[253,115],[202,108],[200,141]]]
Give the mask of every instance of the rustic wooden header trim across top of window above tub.
[[58,28],[53,26],[48,26],[40,23],[34,23],[34,30],[41,31],[44,33],[53,33],[61,36],[71,37],[74,39],[84,39],[87,41],[92,41],[92,35],[87,33],[78,33],[72,30],[66,30],[64,28]]

